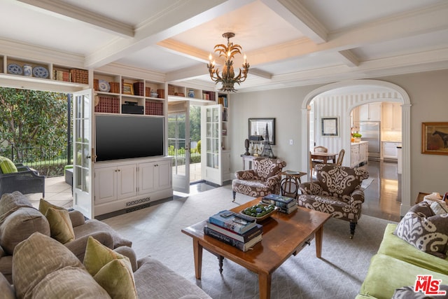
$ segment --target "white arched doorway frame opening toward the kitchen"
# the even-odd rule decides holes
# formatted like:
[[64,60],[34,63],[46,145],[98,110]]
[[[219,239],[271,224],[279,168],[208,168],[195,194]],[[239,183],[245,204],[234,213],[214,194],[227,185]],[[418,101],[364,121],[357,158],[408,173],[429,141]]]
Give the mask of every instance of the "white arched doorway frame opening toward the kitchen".
[[[369,88],[374,90],[376,87],[379,92],[368,92],[368,95],[363,95],[361,90],[363,88]],[[411,203],[411,190],[410,190],[410,99],[407,92],[400,88],[400,86],[386,81],[379,80],[353,80],[343,81],[339,83],[332,83],[324,85],[321,88],[316,88],[309,92],[302,102],[302,153],[309,151],[309,103],[315,97],[335,90],[344,88],[346,90],[352,90],[351,94],[347,93],[346,96],[339,98],[342,101],[343,108],[339,110],[340,127],[341,130],[341,146],[342,148],[350,148],[349,138],[349,113],[350,111],[359,105],[367,104],[370,102],[391,101],[400,102],[402,104],[402,191],[401,198],[402,204],[400,207],[400,214],[404,216],[407,210],[412,206]],[[360,96],[353,96],[358,93]],[[302,155],[302,165],[306,165],[309,169],[309,160],[307,155]]]

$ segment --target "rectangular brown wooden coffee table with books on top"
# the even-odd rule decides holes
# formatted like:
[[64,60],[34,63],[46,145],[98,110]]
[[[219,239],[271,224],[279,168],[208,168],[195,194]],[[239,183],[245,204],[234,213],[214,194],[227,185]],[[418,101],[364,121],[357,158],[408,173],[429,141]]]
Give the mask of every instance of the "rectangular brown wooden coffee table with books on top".
[[[260,202],[261,197],[241,204],[231,211],[239,212]],[[304,246],[310,244],[316,236],[316,257],[322,253],[323,224],[328,221],[330,214],[311,211],[298,207],[291,214],[275,212],[271,217],[262,221],[262,241],[249,251],[225,244],[217,239],[204,236],[206,221],[196,223],[182,230],[193,237],[193,254],[195,258],[195,274],[201,279],[202,249],[207,249],[218,257],[228,258],[235,263],[258,274],[260,298],[270,298],[272,273],[290,256],[296,255]]]

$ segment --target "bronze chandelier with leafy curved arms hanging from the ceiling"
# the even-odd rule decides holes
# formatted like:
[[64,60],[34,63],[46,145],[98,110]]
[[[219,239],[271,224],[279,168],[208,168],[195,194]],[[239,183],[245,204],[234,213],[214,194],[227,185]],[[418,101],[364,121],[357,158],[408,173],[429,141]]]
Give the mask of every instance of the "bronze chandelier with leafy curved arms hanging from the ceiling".
[[221,75],[219,74],[219,69],[215,69],[215,61],[211,60],[211,54],[209,55],[210,62],[207,64],[207,67],[209,68],[210,78],[216,82],[216,84],[220,82],[223,83],[223,87],[220,89],[221,91],[236,92],[237,90],[234,88],[235,83],[238,83],[239,85],[241,82],[244,82],[249,70],[249,64],[246,62],[246,55],[244,55],[243,69],[239,69],[239,74],[235,77],[232,59],[237,53],[241,55],[242,48],[239,45],[230,43],[230,39],[234,36],[235,33],[226,32],[223,34],[223,37],[227,39],[227,46],[221,43],[214,48],[215,53],[219,53],[219,57],[225,57],[225,65]]

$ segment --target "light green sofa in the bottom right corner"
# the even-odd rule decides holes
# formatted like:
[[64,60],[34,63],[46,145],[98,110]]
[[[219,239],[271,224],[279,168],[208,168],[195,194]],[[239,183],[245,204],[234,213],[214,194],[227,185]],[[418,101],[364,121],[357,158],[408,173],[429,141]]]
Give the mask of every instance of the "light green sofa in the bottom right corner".
[[448,284],[448,258],[438,258],[416,249],[393,235],[396,227],[393,223],[386,226],[356,299],[390,299],[395,289],[413,287],[417,275],[430,274],[433,279],[442,279],[442,284]]

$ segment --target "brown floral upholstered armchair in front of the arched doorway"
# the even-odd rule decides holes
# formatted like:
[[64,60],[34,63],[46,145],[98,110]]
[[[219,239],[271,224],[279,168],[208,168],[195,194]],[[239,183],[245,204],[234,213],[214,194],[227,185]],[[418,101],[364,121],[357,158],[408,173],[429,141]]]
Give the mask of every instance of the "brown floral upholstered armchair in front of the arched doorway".
[[300,184],[302,195],[299,195],[297,204],[349,221],[350,238],[353,238],[364,202],[364,191],[360,186],[369,173],[363,168],[334,164],[318,164],[314,170],[317,181]]

